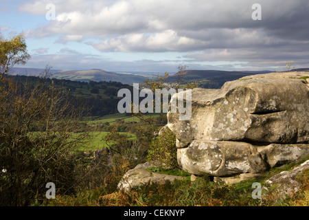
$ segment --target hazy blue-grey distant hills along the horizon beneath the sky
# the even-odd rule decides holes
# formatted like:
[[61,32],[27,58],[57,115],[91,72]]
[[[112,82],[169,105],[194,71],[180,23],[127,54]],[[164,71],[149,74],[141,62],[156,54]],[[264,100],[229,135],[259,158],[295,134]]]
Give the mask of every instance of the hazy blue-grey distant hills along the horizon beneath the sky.
[[[309,72],[309,68],[293,69],[293,71]],[[44,72],[44,69],[36,68],[12,68],[10,74],[13,76],[38,76]],[[156,78],[157,74],[148,72],[106,72],[102,69],[88,69],[88,70],[69,70],[62,71],[52,69],[52,77],[64,80],[73,80],[80,82],[117,82],[127,85],[133,83],[144,83],[146,78]],[[267,74],[272,71],[222,71],[222,70],[194,70],[188,69],[181,76],[181,84],[197,82],[199,87],[209,89],[219,89],[224,83],[231,80],[237,80],[244,76],[255,74]],[[178,76],[176,74],[170,75],[165,82],[176,83]]]

